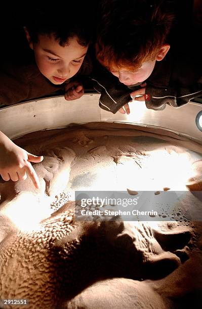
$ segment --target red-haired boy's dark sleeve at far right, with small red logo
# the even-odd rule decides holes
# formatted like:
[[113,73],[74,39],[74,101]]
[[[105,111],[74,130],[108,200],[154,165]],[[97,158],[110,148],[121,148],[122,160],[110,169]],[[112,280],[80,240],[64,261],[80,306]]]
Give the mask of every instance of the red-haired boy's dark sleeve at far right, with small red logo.
[[166,105],[179,108],[202,95],[202,62],[197,56],[186,53],[178,55],[174,51],[167,62],[165,59],[156,63],[146,83],[148,109],[161,111]]

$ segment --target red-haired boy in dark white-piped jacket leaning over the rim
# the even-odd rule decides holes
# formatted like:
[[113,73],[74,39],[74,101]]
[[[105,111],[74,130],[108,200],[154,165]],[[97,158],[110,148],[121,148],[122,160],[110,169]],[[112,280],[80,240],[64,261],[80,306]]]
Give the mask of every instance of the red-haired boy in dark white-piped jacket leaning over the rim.
[[131,97],[148,109],[178,108],[202,95],[200,36],[191,11],[189,0],[102,1],[96,54],[115,76],[101,69],[93,78],[102,109],[129,114]]

